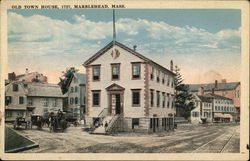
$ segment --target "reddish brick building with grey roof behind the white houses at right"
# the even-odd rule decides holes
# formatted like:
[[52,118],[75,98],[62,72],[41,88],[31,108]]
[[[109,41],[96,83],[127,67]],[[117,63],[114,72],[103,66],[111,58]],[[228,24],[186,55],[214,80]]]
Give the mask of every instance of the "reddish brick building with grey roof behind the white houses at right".
[[223,79],[220,83],[215,80],[215,83],[189,85],[189,91],[191,93],[197,94],[199,88],[203,88],[204,94],[214,93],[216,95],[232,99],[237,110],[237,118],[240,117],[240,82],[227,82]]

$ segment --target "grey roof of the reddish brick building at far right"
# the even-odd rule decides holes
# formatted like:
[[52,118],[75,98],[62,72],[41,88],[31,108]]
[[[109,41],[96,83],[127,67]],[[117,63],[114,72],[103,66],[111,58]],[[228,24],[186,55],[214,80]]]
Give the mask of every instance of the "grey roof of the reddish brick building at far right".
[[189,91],[197,92],[200,87],[203,87],[204,91],[212,91],[213,88],[215,91],[234,90],[238,85],[240,82],[218,83],[217,88],[215,88],[215,83],[189,84]]

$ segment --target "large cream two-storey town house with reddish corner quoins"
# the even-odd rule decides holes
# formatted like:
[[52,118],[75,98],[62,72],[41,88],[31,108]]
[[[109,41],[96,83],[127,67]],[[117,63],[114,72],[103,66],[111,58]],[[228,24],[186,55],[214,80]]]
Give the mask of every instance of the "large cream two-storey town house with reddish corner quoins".
[[[93,55],[84,66],[87,124],[107,122],[107,131],[172,129],[175,115],[172,70],[117,41]],[[102,126],[96,131],[105,133]]]

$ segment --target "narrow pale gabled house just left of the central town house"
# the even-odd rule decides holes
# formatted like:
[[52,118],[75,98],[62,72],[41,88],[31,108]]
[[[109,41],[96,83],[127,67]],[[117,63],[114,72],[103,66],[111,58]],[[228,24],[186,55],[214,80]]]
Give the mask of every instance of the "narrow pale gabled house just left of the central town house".
[[68,92],[66,96],[67,110],[73,113],[77,119],[83,119],[86,105],[86,75],[74,73],[68,84]]

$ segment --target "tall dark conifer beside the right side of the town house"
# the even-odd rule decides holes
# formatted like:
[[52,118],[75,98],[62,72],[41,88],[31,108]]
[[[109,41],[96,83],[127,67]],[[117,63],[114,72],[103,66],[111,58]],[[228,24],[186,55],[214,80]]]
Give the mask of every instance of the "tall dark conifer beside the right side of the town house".
[[188,119],[190,117],[191,111],[195,108],[194,103],[191,101],[193,99],[192,94],[189,93],[189,86],[183,84],[183,79],[180,74],[180,68],[175,66],[175,107],[176,115],[179,117],[184,117]]

